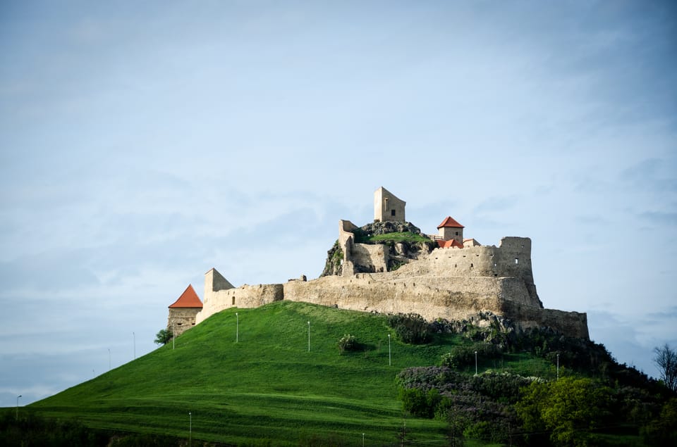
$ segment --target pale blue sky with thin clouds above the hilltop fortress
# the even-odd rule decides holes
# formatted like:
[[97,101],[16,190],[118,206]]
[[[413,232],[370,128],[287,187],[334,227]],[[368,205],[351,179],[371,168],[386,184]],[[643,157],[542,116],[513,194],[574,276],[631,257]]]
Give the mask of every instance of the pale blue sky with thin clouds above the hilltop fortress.
[[152,351],[211,267],[317,277],[380,186],[531,237],[544,306],[657,374],[675,61],[669,1],[2,2],[0,406]]

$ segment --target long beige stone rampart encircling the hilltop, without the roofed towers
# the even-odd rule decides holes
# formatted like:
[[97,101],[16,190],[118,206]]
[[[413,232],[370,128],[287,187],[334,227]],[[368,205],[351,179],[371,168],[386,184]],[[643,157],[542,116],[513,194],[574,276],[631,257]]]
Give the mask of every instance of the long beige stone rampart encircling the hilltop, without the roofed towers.
[[[351,238],[343,239],[344,247],[350,248],[351,243]],[[378,246],[372,247],[358,256],[372,256],[370,262],[381,259]],[[350,253],[345,262],[355,260],[355,252]],[[393,272],[344,273],[285,284],[236,288],[212,269],[205,276],[204,308],[196,321],[226,308],[254,308],[282,299],[365,312],[417,313],[429,321],[470,320],[491,312],[523,329],[547,326],[588,338],[585,313],[543,308],[533,280],[528,238],[506,237],[498,247],[437,248]]]

